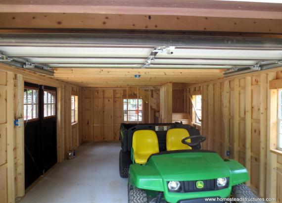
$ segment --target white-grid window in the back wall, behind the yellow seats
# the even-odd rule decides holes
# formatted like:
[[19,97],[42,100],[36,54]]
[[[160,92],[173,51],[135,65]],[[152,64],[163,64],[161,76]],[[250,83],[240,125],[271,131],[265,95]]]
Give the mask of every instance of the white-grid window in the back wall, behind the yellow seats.
[[143,102],[141,99],[123,100],[124,121],[142,121],[142,106]]

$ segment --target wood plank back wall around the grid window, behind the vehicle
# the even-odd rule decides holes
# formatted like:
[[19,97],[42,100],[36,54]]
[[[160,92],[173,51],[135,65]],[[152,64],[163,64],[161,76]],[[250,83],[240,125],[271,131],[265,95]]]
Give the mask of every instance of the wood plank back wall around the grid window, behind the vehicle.
[[143,99],[143,121],[140,123],[155,122],[155,114],[159,108],[158,89],[83,88],[83,142],[118,141],[120,124],[124,122],[123,99],[137,97]]

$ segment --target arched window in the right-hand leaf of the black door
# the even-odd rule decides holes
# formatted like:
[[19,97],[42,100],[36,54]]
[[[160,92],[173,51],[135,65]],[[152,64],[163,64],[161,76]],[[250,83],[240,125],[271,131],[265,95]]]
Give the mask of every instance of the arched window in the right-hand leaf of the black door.
[[56,115],[56,93],[44,91],[44,117]]

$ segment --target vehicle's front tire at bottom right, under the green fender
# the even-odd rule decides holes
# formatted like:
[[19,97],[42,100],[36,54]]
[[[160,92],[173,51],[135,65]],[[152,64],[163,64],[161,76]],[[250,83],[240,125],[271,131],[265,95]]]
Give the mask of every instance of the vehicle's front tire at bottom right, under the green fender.
[[[252,190],[245,184],[239,184],[232,188],[232,195],[234,198],[259,198]],[[250,203],[249,201],[237,201],[236,203]],[[265,203],[263,201],[253,201],[251,203]]]

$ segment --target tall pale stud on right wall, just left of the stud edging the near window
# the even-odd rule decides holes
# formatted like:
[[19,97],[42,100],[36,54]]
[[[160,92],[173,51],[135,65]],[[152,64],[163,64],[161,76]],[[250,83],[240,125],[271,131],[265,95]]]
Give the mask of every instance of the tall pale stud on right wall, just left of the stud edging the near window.
[[265,197],[266,185],[266,138],[267,138],[267,76],[260,75],[260,170],[259,195]]

